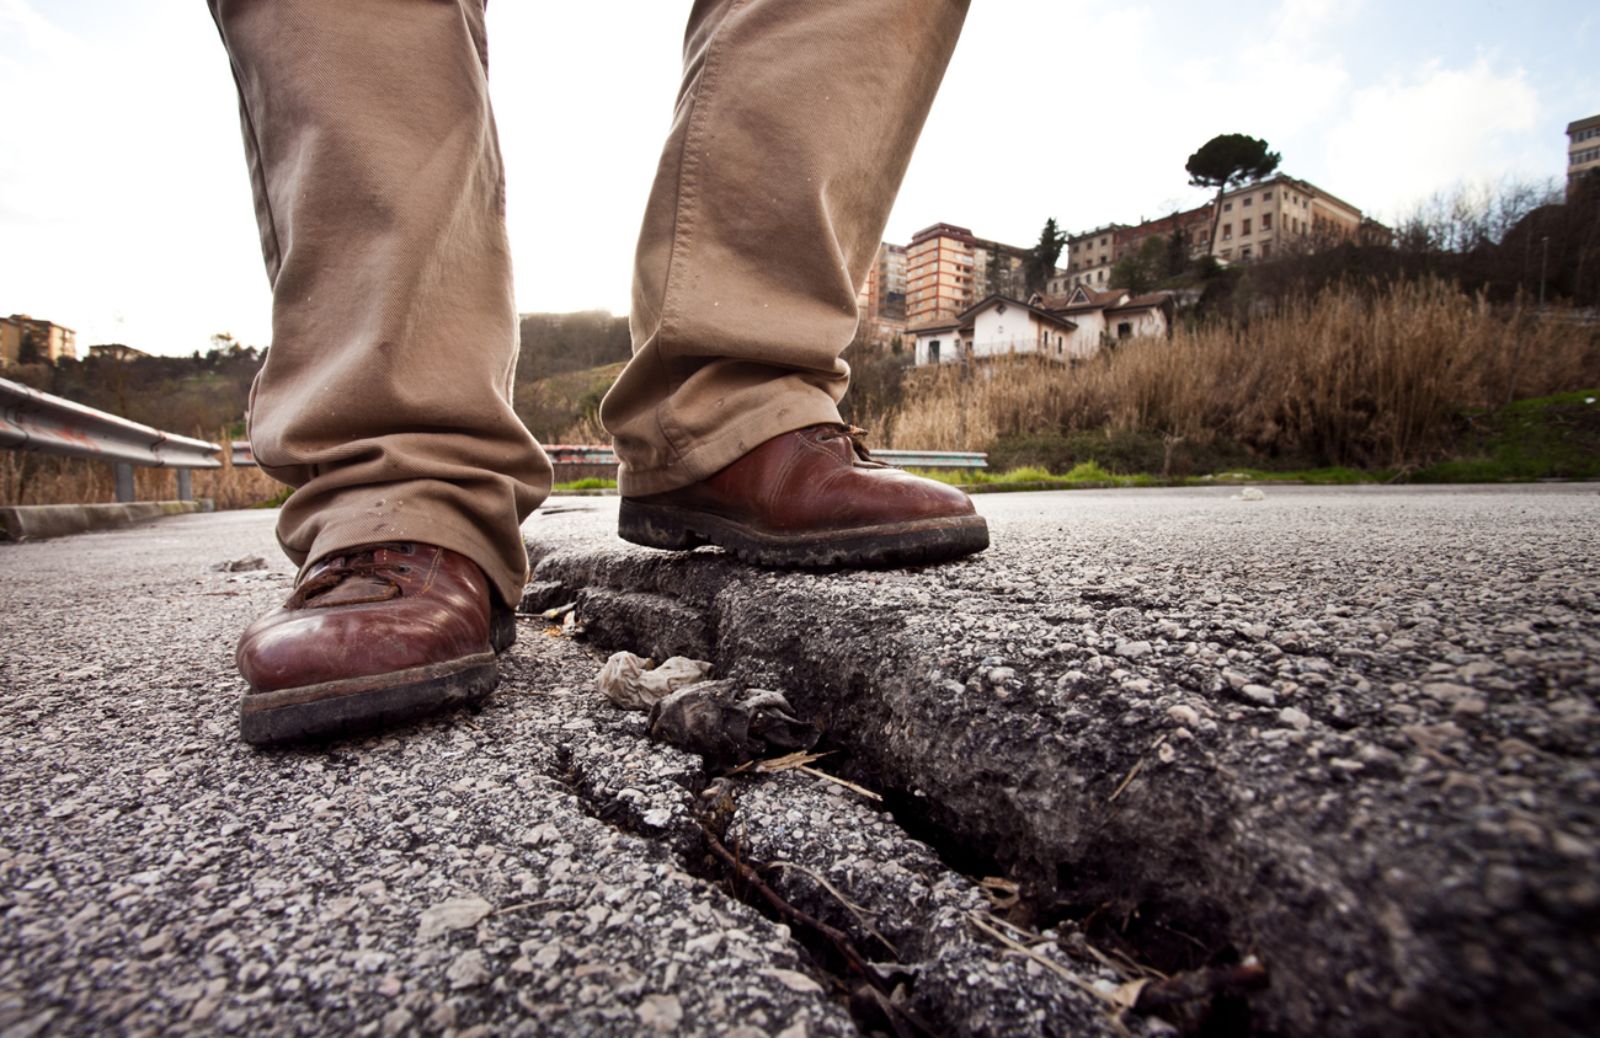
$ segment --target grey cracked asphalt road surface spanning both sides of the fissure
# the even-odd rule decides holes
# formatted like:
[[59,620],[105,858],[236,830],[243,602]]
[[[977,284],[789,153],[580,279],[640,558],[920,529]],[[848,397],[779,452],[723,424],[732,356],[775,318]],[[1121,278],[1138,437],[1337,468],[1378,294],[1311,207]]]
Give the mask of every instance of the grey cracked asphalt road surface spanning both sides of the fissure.
[[480,712],[277,753],[230,659],[270,513],[0,545],[0,1033],[886,1027],[706,857],[610,648],[782,688],[886,795],[741,776],[726,836],[938,1033],[1173,1033],[1112,1016],[1174,940],[1272,971],[1222,1033],[1592,1019],[1594,486],[990,496],[976,560],[824,576],[613,509],[526,528],[589,643],[525,619]]

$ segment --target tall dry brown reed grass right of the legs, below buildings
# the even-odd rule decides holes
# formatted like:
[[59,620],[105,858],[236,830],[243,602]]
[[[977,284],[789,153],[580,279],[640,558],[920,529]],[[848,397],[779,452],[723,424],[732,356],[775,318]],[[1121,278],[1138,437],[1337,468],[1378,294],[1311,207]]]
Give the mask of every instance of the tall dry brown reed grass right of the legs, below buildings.
[[[1227,438],[1325,465],[1408,465],[1462,411],[1600,382],[1600,334],[1494,312],[1438,281],[1331,289],[1248,321],[1136,339],[1077,368],[1040,358],[915,373],[880,441],[987,449],[998,437],[1149,432]],[[864,422],[866,424],[866,422]]]

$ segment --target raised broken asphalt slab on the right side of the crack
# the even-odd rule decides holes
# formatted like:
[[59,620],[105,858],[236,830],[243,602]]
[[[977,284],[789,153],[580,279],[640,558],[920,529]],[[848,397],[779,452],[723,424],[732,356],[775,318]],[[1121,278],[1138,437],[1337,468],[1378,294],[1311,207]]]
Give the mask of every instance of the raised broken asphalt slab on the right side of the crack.
[[946,566],[771,574],[526,526],[530,605],[781,689],[1029,924],[1259,955],[1251,1027],[1579,1033],[1600,1008],[1592,486],[986,497]]

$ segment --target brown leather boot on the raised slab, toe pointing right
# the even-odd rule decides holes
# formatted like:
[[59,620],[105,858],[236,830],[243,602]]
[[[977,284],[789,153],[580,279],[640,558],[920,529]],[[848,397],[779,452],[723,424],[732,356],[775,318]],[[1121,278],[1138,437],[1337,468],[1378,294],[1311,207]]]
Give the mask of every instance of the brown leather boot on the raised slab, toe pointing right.
[[699,483],[624,497],[618,533],[653,549],[717,544],[786,568],[931,563],[989,547],[966,494],[872,461],[858,432],[806,425]]

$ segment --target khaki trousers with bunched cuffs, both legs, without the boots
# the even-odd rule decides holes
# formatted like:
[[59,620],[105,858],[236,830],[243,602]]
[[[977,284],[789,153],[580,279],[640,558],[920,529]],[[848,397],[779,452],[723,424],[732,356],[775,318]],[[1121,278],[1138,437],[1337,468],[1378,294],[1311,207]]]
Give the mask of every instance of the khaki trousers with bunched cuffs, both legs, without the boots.
[[[550,465],[517,312],[483,0],[210,0],[272,283],[251,390],[299,565],[421,541],[515,603]],[[606,395],[621,489],[838,421],[840,360],[966,0],[699,0]],[[598,14],[597,14],[598,16]],[[552,200],[554,203],[555,200]]]

